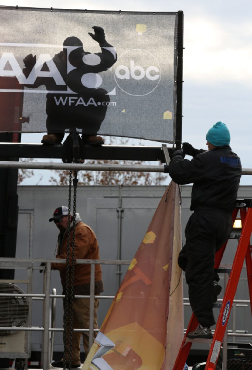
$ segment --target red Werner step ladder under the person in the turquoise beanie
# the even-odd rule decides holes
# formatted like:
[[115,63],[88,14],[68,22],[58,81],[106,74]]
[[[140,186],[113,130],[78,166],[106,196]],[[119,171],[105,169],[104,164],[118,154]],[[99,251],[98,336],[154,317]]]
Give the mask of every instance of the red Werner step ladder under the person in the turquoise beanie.
[[[219,351],[221,349],[221,344],[223,342],[223,337],[227,329],[228,319],[231,312],[232,304],[234,301],[236,289],[238,286],[239,278],[242,271],[242,266],[244,259],[246,260],[246,270],[248,276],[248,286],[249,286],[249,297],[251,304],[251,314],[252,314],[252,246],[250,244],[250,238],[252,233],[252,199],[244,199],[236,201],[235,210],[232,213],[233,223],[236,219],[238,212],[241,214],[242,231],[241,237],[238,242],[238,247],[235,253],[234,262],[229,275],[228,284],[225,290],[221,310],[219,313],[218,321],[216,324],[213,339],[189,339],[187,334],[193,332],[198,326],[198,321],[193,314],[191,320],[188,324],[187,331],[185,333],[183,342],[181,344],[180,350],[176,362],[174,364],[173,370],[183,370],[185,362],[187,360],[188,354],[191,349],[191,345],[194,342],[201,343],[211,343],[210,351],[207,358],[207,363],[205,365],[205,370],[214,370],[219,357]],[[215,265],[214,268],[218,269],[221,262],[222,256],[225,252],[228,240],[224,243],[221,249],[215,254]]]

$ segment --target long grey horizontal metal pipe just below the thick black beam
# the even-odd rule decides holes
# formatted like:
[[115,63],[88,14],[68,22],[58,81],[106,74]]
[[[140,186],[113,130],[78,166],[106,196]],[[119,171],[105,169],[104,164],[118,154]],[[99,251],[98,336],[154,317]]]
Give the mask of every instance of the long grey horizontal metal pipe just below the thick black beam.
[[[100,165],[79,163],[48,163],[48,162],[7,162],[0,161],[0,168],[26,169],[68,169],[72,171],[124,171],[124,172],[164,172],[164,166],[151,165]],[[242,168],[242,175],[252,175],[252,168]]]

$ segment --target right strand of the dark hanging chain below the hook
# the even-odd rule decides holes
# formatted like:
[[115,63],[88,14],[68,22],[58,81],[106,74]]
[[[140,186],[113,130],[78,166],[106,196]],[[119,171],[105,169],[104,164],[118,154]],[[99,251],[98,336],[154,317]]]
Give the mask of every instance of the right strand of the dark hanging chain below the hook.
[[74,172],[74,206],[73,206],[73,226],[72,226],[72,265],[71,265],[71,285],[70,285],[70,323],[69,323],[69,370],[72,365],[72,333],[73,333],[73,303],[74,303],[74,267],[75,267],[75,217],[76,217],[76,191],[78,185],[77,172]]

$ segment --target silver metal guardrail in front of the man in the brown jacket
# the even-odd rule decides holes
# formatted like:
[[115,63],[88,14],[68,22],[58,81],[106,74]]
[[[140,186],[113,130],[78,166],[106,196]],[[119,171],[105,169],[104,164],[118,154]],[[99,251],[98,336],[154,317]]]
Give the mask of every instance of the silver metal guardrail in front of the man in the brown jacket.
[[[34,263],[41,263],[46,262],[47,266],[34,266]],[[86,260],[86,259],[76,259],[76,263],[85,263],[91,264],[91,283],[90,283],[90,295],[75,295],[75,298],[89,298],[90,299],[90,310],[89,310],[89,328],[88,329],[74,329],[74,332],[89,332],[89,348],[92,346],[93,342],[93,333],[99,332],[99,329],[93,329],[93,307],[94,307],[94,299],[113,299],[115,296],[102,296],[102,295],[95,295],[95,265],[130,265],[131,260]],[[27,258],[3,258],[0,261],[0,269],[31,269],[32,270],[44,270],[44,293],[43,294],[33,294],[33,293],[0,293],[0,297],[6,296],[20,296],[20,297],[27,297],[33,298],[33,300],[42,300],[43,301],[43,325],[42,327],[34,327],[31,326],[31,317],[28,320],[28,327],[16,327],[15,330],[17,331],[26,331],[26,332],[42,332],[43,339],[42,339],[42,349],[41,349],[41,363],[42,369],[46,370],[50,368],[50,361],[52,360],[53,354],[53,344],[54,344],[54,332],[63,332],[63,328],[55,328],[55,307],[56,307],[56,299],[62,299],[65,295],[57,295],[56,291],[54,290],[52,294],[50,294],[50,279],[51,279],[51,263],[66,263],[66,260],[59,260],[59,259],[27,259]],[[32,272],[33,274],[33,272]],[[30,277],[31,278],[31,277]],[[5,280],[1,280],[4,282]],[[8,280],[8,282],[18,282],[21,280]],[[22,282],[26,282],[30,280],[22,280]],[[6,280],[7,282],[7,280]],[[50,299],[52,299],[51,310],[51,327],[50,327]],[[221,299],[218,299],[218,302],[222,302]],[[233,302],[234,305],[239,307],[247,307],[250,304],[249,300],[241,300],[235,299]],[[184,298],[184,305],[190,305],[189,299]],[[30,313],[29,313],[30,316]],[[13,327],[0,327],[0,330],[13,330]],[[51,334],[51,339],[50,339]],[[246,330],[228,330],[228,336],[232,337],[252,337],[251,333],[248,333]],[[31,343],[31,339],[28,340],[28,343]],[[50,349],[51,348],[51,349]],[[0,356],[1,357],[1,356]]]

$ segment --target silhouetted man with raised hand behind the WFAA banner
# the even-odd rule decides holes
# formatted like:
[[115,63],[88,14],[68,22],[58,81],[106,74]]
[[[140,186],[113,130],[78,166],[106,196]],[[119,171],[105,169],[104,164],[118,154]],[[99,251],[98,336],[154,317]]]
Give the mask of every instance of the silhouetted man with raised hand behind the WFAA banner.
[[[93,40],[99,43],[100,53],[84,51],[83,44],[78,37],[71,36],[65,39],[63,51],[52,58],[65,85],[58,85],[53,77],[37,77],[30,88],[45,85],[48,90],[47,135],[44,135],[43,144],[59,144],[64,138],[65,130],[76,132],[82,130],[82,140],[85,144],[104,144],[97,132],[105,119],[109,105],[108,91],[98,88],[102,78],[98,73],[108,70],[116,62],[115,48],[105,39],[102,27],[94,26],[94,34],[88,33]],[[24,58],[23,73],[29,76],[36,64],[36,55],[29,54]],[[48,70],[44,64],[42,70]],[[59,91],[59,92],[57,92]]]

